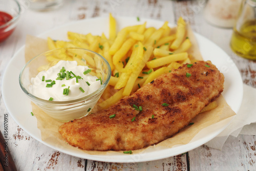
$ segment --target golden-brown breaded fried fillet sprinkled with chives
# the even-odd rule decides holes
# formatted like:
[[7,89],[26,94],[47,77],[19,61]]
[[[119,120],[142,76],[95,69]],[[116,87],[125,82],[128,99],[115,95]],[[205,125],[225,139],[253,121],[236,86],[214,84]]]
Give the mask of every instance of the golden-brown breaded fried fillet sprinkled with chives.
[[59,133],[69,144],[86,150],[143,148],[188,125],[219,97],[223,83],[223,74],[210,61],[183,65],[106,110],[61,125]]

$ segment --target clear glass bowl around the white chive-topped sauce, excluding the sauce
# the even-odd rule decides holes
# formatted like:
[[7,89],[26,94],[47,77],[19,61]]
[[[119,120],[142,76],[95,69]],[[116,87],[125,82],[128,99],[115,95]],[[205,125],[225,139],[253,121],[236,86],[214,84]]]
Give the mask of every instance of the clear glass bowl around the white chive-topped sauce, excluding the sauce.
[[[100,88],[89,95],[66,101],[51,101],[50,99],[46,100],[33,95],[32,90],[30,90],[32,85],[31,78],[36,77],[39,71],[49,70],[60,59],[76,60],[78,66],[88,66],[92,70],[89,74],[100,77]],[[92,111],[106,86],[108,86],[110,77],[110,65],[98,53],[81,48],[60,48],[42,53],[28,61],[20,72],[19,84],[25,94],[42,111],[58,121],[66,122],[86,116]],[[60,89],[63,88],[60,87]]]

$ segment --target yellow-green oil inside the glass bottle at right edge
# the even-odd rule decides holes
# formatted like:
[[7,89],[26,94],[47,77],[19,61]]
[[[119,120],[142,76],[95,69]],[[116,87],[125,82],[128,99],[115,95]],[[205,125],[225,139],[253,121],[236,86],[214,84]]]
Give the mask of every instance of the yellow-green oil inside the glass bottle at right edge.
[[238,55],[256,60],[256,20],[245,22],[239,30],[235,27],[230,46]]

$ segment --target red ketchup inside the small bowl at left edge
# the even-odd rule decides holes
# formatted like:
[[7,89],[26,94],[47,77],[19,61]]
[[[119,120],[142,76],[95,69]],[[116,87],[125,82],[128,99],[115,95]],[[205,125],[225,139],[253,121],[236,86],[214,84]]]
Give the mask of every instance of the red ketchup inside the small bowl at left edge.
[[[7,22],[9,22],[12,19],[12,16],[6,12],[0,11],[0,27],[5,25]],[[7,39],[13,32],[14,28],[8,31],[5,31],[9,26],[1,27],[0,28],[0,42]]]

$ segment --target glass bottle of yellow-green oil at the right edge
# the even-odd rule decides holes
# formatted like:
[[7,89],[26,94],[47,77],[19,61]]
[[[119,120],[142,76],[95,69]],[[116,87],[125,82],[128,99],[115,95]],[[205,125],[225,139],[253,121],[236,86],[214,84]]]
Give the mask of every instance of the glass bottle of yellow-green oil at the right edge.
[[256,0],[242,1],[230,47],[239,56],[256,60]]

